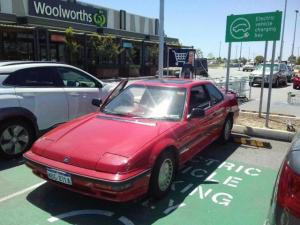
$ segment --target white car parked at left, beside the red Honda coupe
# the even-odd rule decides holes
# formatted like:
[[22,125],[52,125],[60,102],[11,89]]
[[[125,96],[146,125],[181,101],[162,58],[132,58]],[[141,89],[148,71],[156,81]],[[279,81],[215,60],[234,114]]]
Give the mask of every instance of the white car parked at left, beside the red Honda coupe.
[[0,155],[29,149],[44,131],[96,111],[90,104],[112,87],[73,66],[3,62],[0,65]]

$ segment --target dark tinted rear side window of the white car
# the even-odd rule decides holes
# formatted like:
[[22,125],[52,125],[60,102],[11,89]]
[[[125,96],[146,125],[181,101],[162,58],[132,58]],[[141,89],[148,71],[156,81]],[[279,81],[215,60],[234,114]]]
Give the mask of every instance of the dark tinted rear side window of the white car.
[[4,84],[21,87],[61,87],[62,81],[55,68],[39,67],[16,71]]

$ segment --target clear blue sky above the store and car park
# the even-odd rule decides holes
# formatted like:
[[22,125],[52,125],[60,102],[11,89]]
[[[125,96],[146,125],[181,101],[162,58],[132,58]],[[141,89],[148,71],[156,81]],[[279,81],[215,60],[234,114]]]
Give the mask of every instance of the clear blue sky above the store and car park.
[[[96,5],[124,9],[138,15],[159,17],[159,0],[81,0]],[[179,38],[184,45],[201,48],[204,56],[212,53],[219,55],[221,41],[221,57],[227,57],[228,45],[225,43],[226,17],[230,14],[245,14],[284,11],[285,0],[165,0],[165,33]],[[291,55],[293,32],[295,25],[295,9],[300,10],[300,0],[288,0],[283,59]],[[300,18],[298,14],[297,33],[294,55],[298,55],[300,47]],[[271,57],[271,43],[269,57]],[[232,58],[239,56],[240,43],[232,45]],[[248,58],[264,53],[264,42],[243,43],[242,56]],[[277,42],[276,55],[279,55],[280,42]],[[299,50],[300,51],[300,50]],[[238,52],[238,54],[236,54]]]

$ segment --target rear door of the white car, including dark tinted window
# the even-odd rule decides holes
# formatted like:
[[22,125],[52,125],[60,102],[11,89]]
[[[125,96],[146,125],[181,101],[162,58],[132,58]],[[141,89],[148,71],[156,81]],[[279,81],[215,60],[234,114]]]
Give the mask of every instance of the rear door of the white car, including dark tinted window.
[[37,118],[40,130],[68,120],[68,102],[54,67],[18,70],[6,81],[15,86],[19,105]]

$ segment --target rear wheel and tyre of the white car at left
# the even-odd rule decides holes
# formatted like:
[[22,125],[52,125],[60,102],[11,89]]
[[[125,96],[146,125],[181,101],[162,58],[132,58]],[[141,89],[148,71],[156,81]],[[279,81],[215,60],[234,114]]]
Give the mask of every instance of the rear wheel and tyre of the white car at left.
[[35,135],[32,127],[22,120],[9,120],[0,125],[0,155],[11,159],[28,150]]

